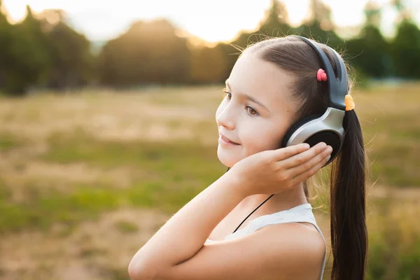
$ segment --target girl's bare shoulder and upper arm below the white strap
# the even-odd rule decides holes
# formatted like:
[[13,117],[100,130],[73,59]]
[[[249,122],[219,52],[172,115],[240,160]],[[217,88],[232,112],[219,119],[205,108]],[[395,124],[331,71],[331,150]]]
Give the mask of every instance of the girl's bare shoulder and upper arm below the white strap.
[[304,223],[267,225],[244,237],[205,244],[153,279],[317,279],[325,242],[312,228]]

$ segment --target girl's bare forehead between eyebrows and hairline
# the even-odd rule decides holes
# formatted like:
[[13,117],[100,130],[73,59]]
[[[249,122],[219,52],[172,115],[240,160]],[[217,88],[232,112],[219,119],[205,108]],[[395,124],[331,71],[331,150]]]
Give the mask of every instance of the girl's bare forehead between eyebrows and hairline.
[[244,93],[265,104],[272,113],[293,111],[290,85],[293,76],[255,52],[243,52],[233,67],[228,83],[235,94]]

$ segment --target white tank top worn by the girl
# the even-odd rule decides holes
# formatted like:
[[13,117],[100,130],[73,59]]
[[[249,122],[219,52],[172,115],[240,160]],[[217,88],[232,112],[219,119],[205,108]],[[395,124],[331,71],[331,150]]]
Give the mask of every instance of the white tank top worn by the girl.
[[[240,230],[237,230],[235,233],[231,233],[227,237],[225,237],[225,240],[228,239],[235,239],[237,237],[242,237],[244,235],[248,235],[251,232],[255,232],[255,230],[258,230],[260,228],[263,228],[267,225],[274,225],[277,223],[300,223],[300,222],[306,222],[311,223],[315,226],[316,230],[321,234],[322,238],[325,238],[319,229],[318,225],[316,224],[315,216],[312,213],[312,207],[311,204],[305,203],[300,204],[297,207],[293,207],[288,210],[279,211],[273,214],[268,214],[264,216],[260,216],[258,218],[255,218],[251,221],[248,221],[248,224],[245,228],[241,228]],[[211,242],[214,242],[214,240],[207,239],[205,244],[209,244]],[[323,272],[325,269],[325,260],[326,260],[326,253],[327,252],[327,244],[325,242],[325,255],[323,258],[323,265],[322,265],[322,271],[321,271],[321,280],[323,277]]]

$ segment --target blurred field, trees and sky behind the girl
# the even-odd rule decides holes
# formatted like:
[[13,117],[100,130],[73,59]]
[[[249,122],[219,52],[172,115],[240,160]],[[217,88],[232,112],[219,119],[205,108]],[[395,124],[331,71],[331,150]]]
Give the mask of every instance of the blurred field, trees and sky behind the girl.
[[[129,279],[132,255],[225,172],[214,118],[239,50],[288,34],[355,70],[367,279],[420,279],[419,1],[0,6],[0,279]],[[311,204],[330,242],[327,179]]]

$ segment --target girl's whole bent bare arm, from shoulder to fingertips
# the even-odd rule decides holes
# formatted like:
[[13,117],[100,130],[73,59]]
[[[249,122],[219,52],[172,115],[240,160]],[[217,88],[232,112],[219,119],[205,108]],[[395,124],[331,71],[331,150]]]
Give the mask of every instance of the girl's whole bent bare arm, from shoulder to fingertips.
[[[309,178],[328,161],[329,156],[325,155],[329,155],[330,150],[325,149],[325,144],[308,148],[307,144],[289,146],[256,153],[237,162],[232,171],[223,174],[181,208],[134,255],[129,266],[130,276],[134,280],[225,279],[229,274],[232,280],[255,279],[253,277],[261,276],[264,270],[261,265],[266,267],[268,262],[273,261],[275,265],[271,270],[266,269],[265,273],[283,269],[282,275],[287,276],[286,272],[292,272],[296,267],[302,270],[300,257],[312,251],[309,245],[317,241],[297,239],[299,232],[296,230],[284,231],[284,239],[280,239],[278,228],[271,226],[234,241],[220,241],[214,246],[203,245],[216,225],[244,197],[261,192],[279,193],[285,186],[291,188]],[[288,241],[288,246],[283,244],[284,241]],[[304,246],[302,250],[300,244]],[[261,253],[262,257],[255,260],[255,251]],[[305,256],[305,261],[315,259]],[[293,260],[296,261],[290,263]],[[193,264],[204,270],[195,269]],[[210,271],[213,274],[209,274]],[[279,276],[275,279],[279,279]]]

